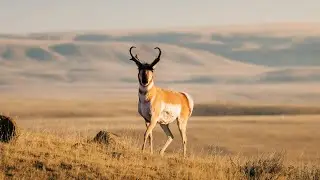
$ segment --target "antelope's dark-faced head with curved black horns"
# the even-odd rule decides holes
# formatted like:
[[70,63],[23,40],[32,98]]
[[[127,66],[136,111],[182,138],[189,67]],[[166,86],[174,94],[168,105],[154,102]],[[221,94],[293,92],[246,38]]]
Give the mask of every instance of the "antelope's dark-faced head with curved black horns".
[[152,80],[153,80],[153,71],[155,68],[155,65],[160,61],[160,56],[161,56],[161,49],[159,47],[155,47],[154,49],[158,49],[159,54],[156,57],[155,60],[151,64],[149,63],[141,63],[138,55],[136,54],[135,56],[132,55],[132,49],[136,48],[135,46],[131,46],[129,49],[130,55],[131,55],[131,61],[135,62],[139,73],[138,73],[138,79],[139,83],[141,86],[148,86]]

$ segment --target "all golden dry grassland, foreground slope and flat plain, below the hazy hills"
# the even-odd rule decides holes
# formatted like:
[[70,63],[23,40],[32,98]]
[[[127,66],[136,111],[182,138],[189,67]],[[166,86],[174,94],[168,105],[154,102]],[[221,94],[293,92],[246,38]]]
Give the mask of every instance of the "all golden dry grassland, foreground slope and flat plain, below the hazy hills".
[[[15,142],[0,144],[0,179],[319,179],[320,176],[318,115],[211,116],[217,112],[217,106],[229,110],[229,114],[241,108],[261,113],[270,106],[198,104],[188,125],[188,158],[183,159],[175,125],[171,126],[175,139],[165,157],[157,153],[166,138],[158,126],[153,135],[155,154],[140,152],[145,125],[137,116],[134,101],[113,104],[113,99],[108,102],[3,99],[0,105],[5,114],[17,116],[14,119],[21,127]],[[234,106],[238,108],[236,111]],[[271,107],[279,111],[280,106]],[[301,112],[298,106],[282,107]],[[102,129],[120,135],[118,143],[105,146],[87,141]]]

